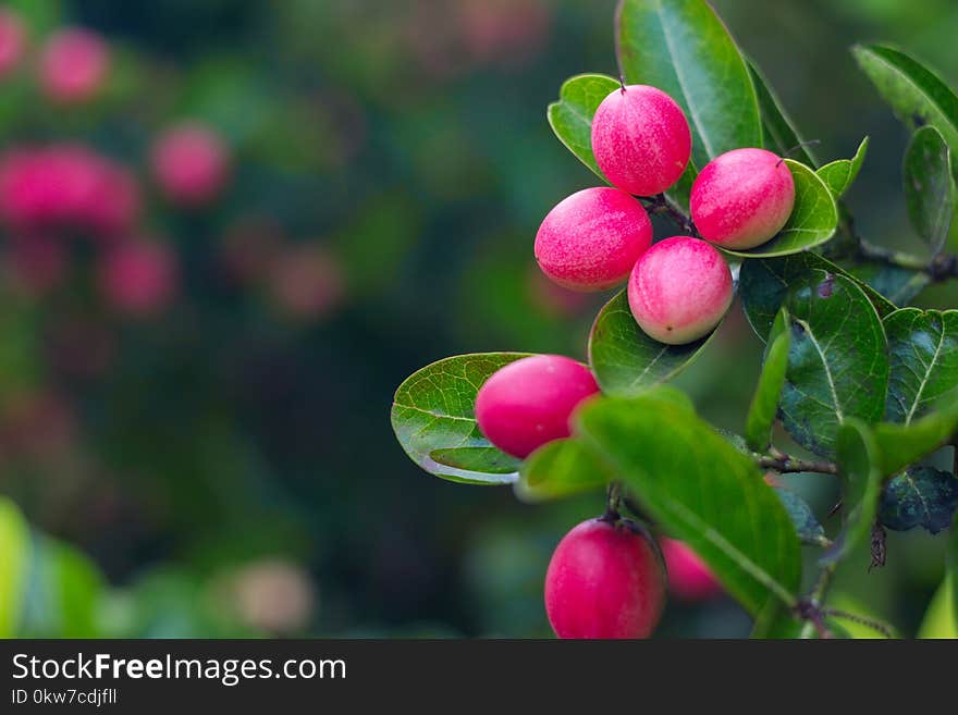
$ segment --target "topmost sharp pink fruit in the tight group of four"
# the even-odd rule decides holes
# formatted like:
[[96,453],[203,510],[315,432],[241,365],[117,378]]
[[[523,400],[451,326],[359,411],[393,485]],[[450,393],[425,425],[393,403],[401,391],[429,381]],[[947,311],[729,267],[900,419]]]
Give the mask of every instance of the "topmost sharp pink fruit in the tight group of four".
[[681,108],[661,89],[629,85],[610,94],[592,116],[592,153],[624,192],[654,196],[688,164],[692,135]]

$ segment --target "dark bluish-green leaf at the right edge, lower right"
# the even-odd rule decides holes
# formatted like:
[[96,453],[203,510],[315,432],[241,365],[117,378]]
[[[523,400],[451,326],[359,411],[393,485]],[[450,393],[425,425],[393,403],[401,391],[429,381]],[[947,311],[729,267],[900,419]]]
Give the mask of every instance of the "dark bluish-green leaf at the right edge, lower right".
[[958,479],[931,467],[908,469],[885,485],[879,520],[895,531],[923,527],[938,533],[958,507]]

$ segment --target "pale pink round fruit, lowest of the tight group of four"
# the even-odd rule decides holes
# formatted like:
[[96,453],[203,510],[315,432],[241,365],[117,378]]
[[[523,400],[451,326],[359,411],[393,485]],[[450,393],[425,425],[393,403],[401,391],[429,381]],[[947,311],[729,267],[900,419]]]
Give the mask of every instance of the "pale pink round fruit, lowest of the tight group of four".
[[732,305],[732,273],[704,241],[674,236],[652,246],[636,263],[629,307],[650,337],[670,345],[708,335]]

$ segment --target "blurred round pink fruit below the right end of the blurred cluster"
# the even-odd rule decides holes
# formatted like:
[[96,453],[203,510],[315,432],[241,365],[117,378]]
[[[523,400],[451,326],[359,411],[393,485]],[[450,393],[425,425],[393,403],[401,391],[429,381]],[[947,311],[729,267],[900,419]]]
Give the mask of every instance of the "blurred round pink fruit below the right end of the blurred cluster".
[[100,288],[113,306],[133,316],[149,316],[169,305],[176,288],[175,256],[149,241],[123,243],[100,266]]

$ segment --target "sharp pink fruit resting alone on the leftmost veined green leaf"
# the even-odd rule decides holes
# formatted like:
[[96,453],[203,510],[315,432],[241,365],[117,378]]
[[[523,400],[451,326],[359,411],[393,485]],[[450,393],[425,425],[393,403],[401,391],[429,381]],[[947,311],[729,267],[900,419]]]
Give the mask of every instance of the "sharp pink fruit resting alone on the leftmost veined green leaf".
[[535,355],[495,372],[476,395],[476,421],[503,452],[526,458],[570,434],[569,417],[599,392],[589,369],[561,355]]

